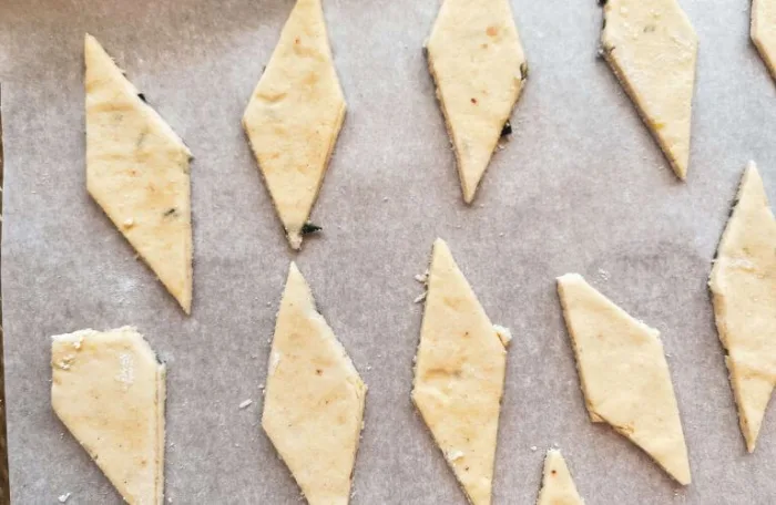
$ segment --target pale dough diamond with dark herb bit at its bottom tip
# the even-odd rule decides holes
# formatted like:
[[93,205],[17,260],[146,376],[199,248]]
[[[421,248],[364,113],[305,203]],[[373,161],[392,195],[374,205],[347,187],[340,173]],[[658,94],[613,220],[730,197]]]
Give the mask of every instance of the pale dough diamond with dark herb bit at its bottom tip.
[[302,247],[344,118],[320,0],[297,0],[243,115],[294,249]]

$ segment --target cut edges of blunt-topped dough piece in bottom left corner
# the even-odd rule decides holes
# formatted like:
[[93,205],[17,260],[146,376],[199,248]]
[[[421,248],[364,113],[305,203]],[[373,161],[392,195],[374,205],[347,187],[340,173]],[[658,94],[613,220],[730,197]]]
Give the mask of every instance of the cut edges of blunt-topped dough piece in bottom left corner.
[[[159,456],[159,461],[156,462],[156,475],[155,475],[155,482],[154,482],[154,495],[156,496],[156,503],[162,503],[164,501],[164,450],[165,450],[165,440],[166,440],[166,429],[165,429],[165,412],[167,408],[167,384],[166,384],[166,379],[167,379],[167,365],[164,361],[162,361],[159,358],[159,354],[154,349],[151,347],[151,343],[145,339],[145,336],[142,334],[140,331],[137,331],[137,328],[134,326],[123,326],[119,328],[113,328],[110,330],[104,330],[104,331],[98,331],[93,330],[91,328],[85,328],[83,330],[76,330],[73,331],[72,333],[60,333],[60,334],[54,334],[51,337],[52,342],[71,342],[71,341],[78,341],[80,338],[86,337],[86,336],[94,336],[94,334],[100,334],[100,333],[106,333],[109,331],[132,331],[136,334],[140,336],[140,338],[143,340],[147,349],[151,351],[153,357],[156,359],[156,426],[159,431],[156,432],[156,452]],[[161,408],[160,408],[161,406]],[[59,415],[57,415],[59,419]],[[64,424],[64,421],[60,422]],[[67,424],[64,424],[65,427]],[[103,475],[105,474],[104,468],[102,467],[102,464],[98,458],[94,457],[94,454],[81,443],[78,437],[75,437],[72,432],[70,431],[70,427],[68,427],[68,431],[71,433],[71,436],[75,439],[75,441],[79,443],[79,445],[84,450],[86,454],[89,454],[89,457],[96,464],[96,466],[100,468],[100,472]],[[108,480],[108,477],[104,477]],[[111,483],[112,485],[112,483]],[[115,486],[113,486],[115,488]],[[116,493],[120,494],[116,489]],[[122,498],[125,498],[122,496]]]

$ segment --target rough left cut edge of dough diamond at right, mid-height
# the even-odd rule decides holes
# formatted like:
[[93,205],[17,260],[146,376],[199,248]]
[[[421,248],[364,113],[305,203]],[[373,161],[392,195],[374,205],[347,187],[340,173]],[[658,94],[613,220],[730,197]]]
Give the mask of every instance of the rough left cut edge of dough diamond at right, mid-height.
[[[716,293],[714,292],[713,288],[713,278],[715,276],[715,272],[717,271],[716,267],[716,260],[717,257],[719,256],[719,248],[722,247],[723,241],[725,240],[725,236],[727,235],[727,226],[733,219],[736,207],[738,206],[738,202],[741,200],[741,194],[744,188],[744,179],[746,178],[746,173],[748,172],[749,165],[753,164],[754,162],[749,161],[746,164],[746,167],[744,168],[744,173],[742,174],[739,181],[738,181],[738,186],[736,187],[735,195],[733,196],[733,200],[731,202],[729,205],[729,210],[727,214],[727,220],[725,221],[724,228],[722,230],[722,234],[719,235],[719,240],[717,241],[717,247],[714,249],[714,258],[712,259],[712,270],[708,274],[708,282],[707,282],[707,288],[708,288],[708,295],[709,298],[712,299],[712,308],[714,312],[714,323],[717,329],[717,334],[719,337],[719,344],[722,346],[722,350],[724,353],[724,359],[725,359],[725,368],[727,369],[727,380],[731,383],[731,389],[733,390],[733,399],[735,400],[736,403],[736,413],[738,416],[738,424],[741,426],[741,435],[744,439],[744,443],[746,444],[746,451],[748,453],[753,453],[757,446],[757,440],[753,440],[749,442],[747,440],[745,433],[748,433],[748,423],[746,422],[746,419],[744,415],[742,415],[742,409],[741,409],[741,402],[739,402],[739,395],[741,393],[738,392],[738,388],[736,387],[735,381],[733,380],[733,368],[731,365],[731,357],[729,357],[729,351],[727,349],[727,323],[726,323],[726,312],[724,311],[724,302],[723,300],[725,299],[724,295],[722,293]],[[717,312],[723,313],[723,317],[717,317]],[[768,401],[768,404],[770,404],[770,401]],[[766,406],[765,414],[767,414],[768,408]],[[759,433],[758,433],[759,435]]]

